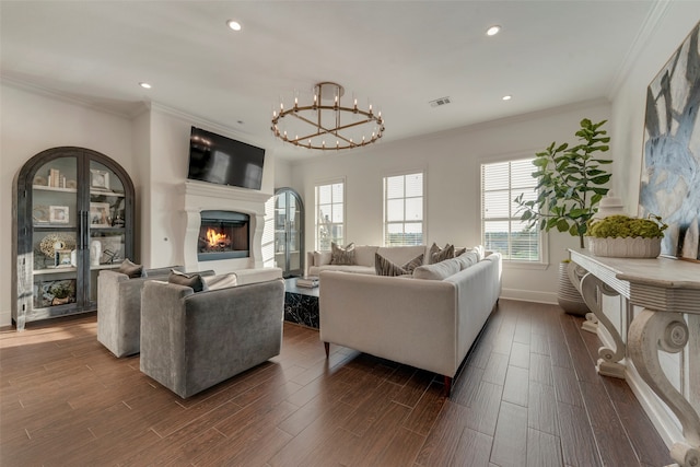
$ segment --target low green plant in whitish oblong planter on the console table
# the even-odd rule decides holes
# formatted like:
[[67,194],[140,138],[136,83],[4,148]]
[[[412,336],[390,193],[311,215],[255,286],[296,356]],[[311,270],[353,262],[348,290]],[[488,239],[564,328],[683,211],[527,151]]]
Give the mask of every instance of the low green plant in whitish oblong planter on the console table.
[[596,256],[655,258],[668,227],[658,215],[648,219],[608,215],[588,223],[588,249]]

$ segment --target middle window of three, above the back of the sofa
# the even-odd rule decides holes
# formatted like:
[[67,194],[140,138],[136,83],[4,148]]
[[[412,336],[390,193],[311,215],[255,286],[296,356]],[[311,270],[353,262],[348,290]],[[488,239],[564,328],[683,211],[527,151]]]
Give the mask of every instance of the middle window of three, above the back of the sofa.
[[384,246],[423,245],[423,173],[384,178]]

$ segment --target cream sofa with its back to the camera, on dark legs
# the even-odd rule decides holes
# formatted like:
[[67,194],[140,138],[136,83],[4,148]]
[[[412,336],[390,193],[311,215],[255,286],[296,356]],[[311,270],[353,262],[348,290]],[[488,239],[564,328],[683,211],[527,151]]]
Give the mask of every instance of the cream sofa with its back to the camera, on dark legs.
[[[492,253],[420,266],[412,277],[322,270],[319,336],[452,380],[501,293],[502,259]],[[419,278],[431,279],[419,279]]]

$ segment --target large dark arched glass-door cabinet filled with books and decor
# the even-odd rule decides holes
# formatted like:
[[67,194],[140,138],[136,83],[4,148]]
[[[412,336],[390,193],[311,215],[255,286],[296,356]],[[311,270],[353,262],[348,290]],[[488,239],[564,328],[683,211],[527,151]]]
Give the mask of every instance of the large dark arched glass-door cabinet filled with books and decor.
[[133,184],[112,159],[54,148],[14,180],[12,320],[97,308],[97,275],[133,259]]

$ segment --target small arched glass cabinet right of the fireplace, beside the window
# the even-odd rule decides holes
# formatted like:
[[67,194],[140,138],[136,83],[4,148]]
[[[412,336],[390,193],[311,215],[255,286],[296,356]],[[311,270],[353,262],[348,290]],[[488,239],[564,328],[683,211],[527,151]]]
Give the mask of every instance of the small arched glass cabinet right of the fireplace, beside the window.
[[304,205],[292,188],[275,191],[275,264],[285,278],[302,276]]

